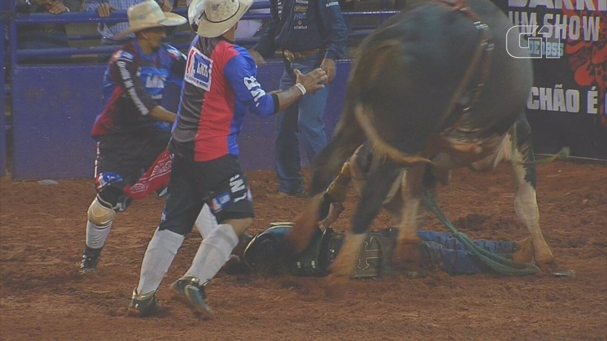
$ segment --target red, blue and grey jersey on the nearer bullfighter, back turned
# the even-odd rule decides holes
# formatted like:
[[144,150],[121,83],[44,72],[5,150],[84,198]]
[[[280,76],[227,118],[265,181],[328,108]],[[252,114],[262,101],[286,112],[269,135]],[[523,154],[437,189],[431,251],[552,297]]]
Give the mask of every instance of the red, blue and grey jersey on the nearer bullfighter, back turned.
[[277,96],[262,89],[256,73],[243,47],[222,37],[194,38],[169,149],[194,161],[238,156],[246,110],[266,117],[278,109]]

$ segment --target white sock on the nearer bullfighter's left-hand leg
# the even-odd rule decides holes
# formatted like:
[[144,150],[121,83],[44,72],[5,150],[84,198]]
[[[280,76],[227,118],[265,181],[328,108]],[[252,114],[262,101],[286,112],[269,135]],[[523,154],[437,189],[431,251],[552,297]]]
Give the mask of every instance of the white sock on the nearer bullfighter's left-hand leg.
[[169,230],[156,229],[141,262],[138,294],[156,291],[183,243],[185,236]]

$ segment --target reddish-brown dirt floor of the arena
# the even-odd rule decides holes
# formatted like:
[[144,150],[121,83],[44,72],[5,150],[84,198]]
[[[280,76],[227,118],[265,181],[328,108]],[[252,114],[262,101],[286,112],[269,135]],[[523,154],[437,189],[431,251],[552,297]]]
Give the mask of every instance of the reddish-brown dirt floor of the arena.
[[[303,200],[277,199],[273,172],[251,172],[257,220],[292,219]],[[200,322],[168,285],[189,266],[200,236],[188,235],[161,284],[167,311],[126,314],[141,259],[163,199],[148,197],[115,220],[98,272],[78,275],[92,180],[57,186],[0,182],[0,339],[2,340],[606,340],[607,169],[556,162],[538,170],[544,236],[560,269],[549,274],[352,280],[345,297],[328,299],[322,279],[289,275],[228,275],[208,286],[217,318]],[[473,238],[527,236],[512,204],[509,166],[474,174],[457,170],[439,204]],[[270,195],[268,195],[270,194]],[[334,228],[347,228],[356,195]],[[373,228],[390,226],[382,214]],[[424,229],[445,231],[435,218]]]

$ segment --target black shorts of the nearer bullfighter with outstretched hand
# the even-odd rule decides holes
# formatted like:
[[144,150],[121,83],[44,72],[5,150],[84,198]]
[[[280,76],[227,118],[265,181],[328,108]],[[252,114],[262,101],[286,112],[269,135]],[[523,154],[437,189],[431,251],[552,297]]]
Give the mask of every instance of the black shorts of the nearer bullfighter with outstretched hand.
[[234,155],[194,162],[175,154],[168,192],[160,230],[187,234],[205,203],[219,223],[253,218],[253,197]]

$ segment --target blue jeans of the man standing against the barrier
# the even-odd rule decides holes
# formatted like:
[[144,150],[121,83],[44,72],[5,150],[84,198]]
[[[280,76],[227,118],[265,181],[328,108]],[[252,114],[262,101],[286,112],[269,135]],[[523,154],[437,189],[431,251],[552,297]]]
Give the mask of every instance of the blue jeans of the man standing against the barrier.
[[[285,61],[285,71],[280,78],[280,90],[286,90],[295,84],[296,77],[293,69],[308,73],[320,66],[322,54],[299,59],[293,62]],[[327,105],[328,88],[308,93],[297,103],[288,107],[284,112],[276,114],[276,155],[274,166],[276,176],[280,181],[279,192],[296,194],[304,191],[304,178],[301,173],[299,155],[299,136],[304,142],[304,150],[310,164],[325,146],[325,122],[322,117]]]

